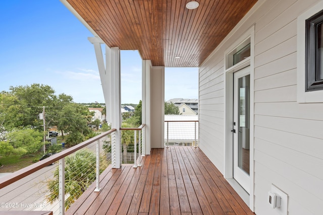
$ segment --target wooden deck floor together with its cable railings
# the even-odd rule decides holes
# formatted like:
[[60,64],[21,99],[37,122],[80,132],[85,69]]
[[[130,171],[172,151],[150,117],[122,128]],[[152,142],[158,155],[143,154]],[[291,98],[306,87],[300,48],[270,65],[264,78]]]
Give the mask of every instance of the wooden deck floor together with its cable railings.
[[[191,136],[196,138],[197,121],[186,123],[194,124],[184,130],[190,130]],[[179,130],[178,126],[169,128]],[[123,132],[131,132],[133,136],[126,149],[124,144],[118,145],[118,130],[112,129],[0,178],[0,202],[5,202],[0,214],[18,214],[19,211],[22,214],[31,211],[49,211],[48,214],[50,211],[53,214],[253,214],[198,148],[197,139],[192,147],[166,146],[151,149],[150,155],[145,155],[145,125],[121,128],[121,137]],[[71,177],[72,164],[68,156],[75,157],[85,148],[96,161],[90,165],[91,177],[78,181],[89,172],[79,163],[78,169],[73,170],[78,173]],[[123,159],[124,164],[114,168],[118,159]],[[56,185],[49,189],[48,181],[55,180]],[[51,202],[46,196],[52,197]],[[74,203],[67,206],[69,202]]]

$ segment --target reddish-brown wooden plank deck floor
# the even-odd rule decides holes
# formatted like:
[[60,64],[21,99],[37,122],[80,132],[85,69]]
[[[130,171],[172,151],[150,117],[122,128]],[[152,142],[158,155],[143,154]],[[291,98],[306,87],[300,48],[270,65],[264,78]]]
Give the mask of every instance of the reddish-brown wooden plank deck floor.
[[198,148],[153,149],[137,169],[101,174],[66,214],[254,214]]

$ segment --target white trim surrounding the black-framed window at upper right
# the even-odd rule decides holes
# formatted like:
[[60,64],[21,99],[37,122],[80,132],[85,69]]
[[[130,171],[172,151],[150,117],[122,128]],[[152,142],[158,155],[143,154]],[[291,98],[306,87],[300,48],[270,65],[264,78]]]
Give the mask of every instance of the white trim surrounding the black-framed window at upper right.
[[323,102],[323,90],[305,92],[305,20],[320,12],[323,2],[319,2],[297,18],[297,102]]

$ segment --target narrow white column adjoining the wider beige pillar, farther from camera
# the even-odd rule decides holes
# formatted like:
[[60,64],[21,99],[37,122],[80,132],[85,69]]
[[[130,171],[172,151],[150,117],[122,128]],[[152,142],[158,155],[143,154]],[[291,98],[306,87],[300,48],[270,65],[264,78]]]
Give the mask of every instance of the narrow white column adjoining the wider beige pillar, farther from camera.
[[142,141],[145,155],[150,155],[150,60],[142,60],[142,123],[145,124]]

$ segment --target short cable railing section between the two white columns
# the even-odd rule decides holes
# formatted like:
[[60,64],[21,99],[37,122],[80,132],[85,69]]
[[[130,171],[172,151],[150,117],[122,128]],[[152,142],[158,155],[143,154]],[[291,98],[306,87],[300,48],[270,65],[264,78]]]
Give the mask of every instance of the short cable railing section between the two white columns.
[[120,128],[120,130],[122,163],[133,163],[134,168],[141,166],[142,157],[145,156],[145,124],[137,128]]

